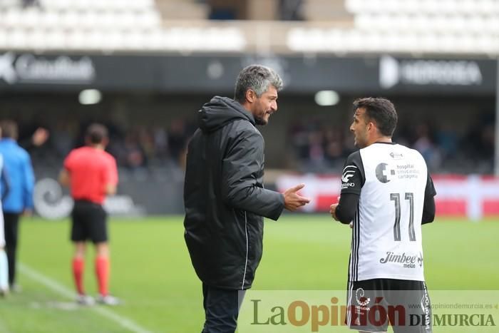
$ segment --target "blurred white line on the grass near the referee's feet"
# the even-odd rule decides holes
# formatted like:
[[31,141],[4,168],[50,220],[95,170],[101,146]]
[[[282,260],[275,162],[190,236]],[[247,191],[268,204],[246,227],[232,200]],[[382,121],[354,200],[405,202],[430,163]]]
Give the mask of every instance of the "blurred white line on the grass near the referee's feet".
[[[40,272],[37,272],[33,268],[28,267],[22,264],[21,262],[19,262],[18,267],[19,267],[19,272],[26,275],[31,280],[34,280],[40,283],[41,285],[45,285],[48,289],[53,290],[53,292],[56,292],[63,297],[76,299],[75,292],[64,287],[56,280],[52,280],[50,277],[42,275]],[[113,312],[110,309],[106,309],[104,307],[89,307],[89,309],[92,309],[94,312],[100,314],[103,317],[106,317],[107,319],[113,320],[114,322],[120,324],[121,327],[124,327],[125,329],[128,329],[131,332],[152,333],[148,329],[140,327],[137,323],[133,322],[133,320],[128,319],[127,317],[123,317],[122,315],[117,314],[116,312]]]

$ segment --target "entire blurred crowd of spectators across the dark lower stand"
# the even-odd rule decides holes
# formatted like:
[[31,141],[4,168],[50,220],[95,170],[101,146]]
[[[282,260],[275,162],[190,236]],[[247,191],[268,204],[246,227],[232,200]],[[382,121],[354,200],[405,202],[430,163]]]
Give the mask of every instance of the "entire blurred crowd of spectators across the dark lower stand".
[[[59,121],[51,125],[19,122],[19,141],[31,153],[34,165],[60,168],[72,148],[84,144],[89,123]],[[110,133],[108,151],[118,166],[147,170],[156,166],[182,168],[187,142],[197,128],[194,122],[178,118],[168,125],[130,125],[122,128],[105,123]],[[48,139],[36,145],[33,134],[48,130]],[[289,126],[287,168],[304,173],[338,173],[353,152],[353,137],[344,126],[324,121],[297,122]],[[443,130],[430,122],[399,124],[393,141],[418,150],[433,173],[493,173],[495,130],[493,118],[480,118],[462,135]],[[283,156],[284,158],[284,156]]]

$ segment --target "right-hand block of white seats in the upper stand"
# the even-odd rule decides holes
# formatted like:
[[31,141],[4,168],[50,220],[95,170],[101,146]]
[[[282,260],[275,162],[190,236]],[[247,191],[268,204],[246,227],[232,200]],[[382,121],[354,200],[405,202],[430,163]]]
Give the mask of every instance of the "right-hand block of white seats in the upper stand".
[[346,0],[344,6],[353,16],[351,29],[292,28],[289,48],[301,52],[499,53],[498,1]]

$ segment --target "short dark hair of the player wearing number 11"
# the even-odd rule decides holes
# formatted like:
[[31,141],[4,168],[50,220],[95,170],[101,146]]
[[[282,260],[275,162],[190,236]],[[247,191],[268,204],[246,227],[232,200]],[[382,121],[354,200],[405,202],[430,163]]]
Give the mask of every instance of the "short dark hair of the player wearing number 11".
[[397,125],[397,111],[391,101],[386,98],[365,97],[354,101],[354,108],[366,109],[366,116],[376,123],[379,132],[382,135],[393,135],[393,131]]

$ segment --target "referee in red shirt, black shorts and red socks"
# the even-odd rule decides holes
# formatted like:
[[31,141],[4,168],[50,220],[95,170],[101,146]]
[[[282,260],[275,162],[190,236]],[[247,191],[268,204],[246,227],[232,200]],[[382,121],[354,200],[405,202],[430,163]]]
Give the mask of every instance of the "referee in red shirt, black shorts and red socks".
[[83,288],[86,241],[96,247],[96,277],[99,295],[97,301],[115,305],[119,301],[109,294],[110,260],[106,211],[102,204],[106,195],[116,193],[118,170],[116,161],[104,150],[108,144],[108,130],[101,124],[92,124],[86,131],[86,147],[71,150],[64,160],[59,181],[68,185],[74,200],[71,213],[71,240],[75,245],[73,277],[78,292],[77,302],[91,305],[94,299]]

